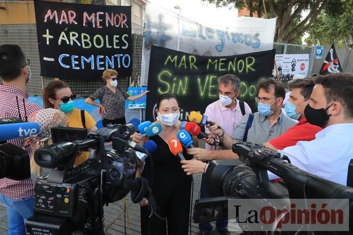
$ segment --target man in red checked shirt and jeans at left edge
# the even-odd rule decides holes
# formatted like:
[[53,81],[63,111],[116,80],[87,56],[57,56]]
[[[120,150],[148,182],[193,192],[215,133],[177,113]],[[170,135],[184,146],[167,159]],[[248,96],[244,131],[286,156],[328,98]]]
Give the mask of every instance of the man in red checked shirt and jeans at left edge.
[[[18,45],[0,46],[0,118],[18,117],[24,121],[41,108],[27,99],[26,84],[31,79],[30,61]],[[17,102],[18,101],[18,102]],[[8,142],[22,147],[24,138]],[[31,150],[28,149],[29,155]],[[25,234],[25,221],[32,216],[34,187],[30,178],[26,180],[0,179],[0,201],[6,204],[8,234]]]

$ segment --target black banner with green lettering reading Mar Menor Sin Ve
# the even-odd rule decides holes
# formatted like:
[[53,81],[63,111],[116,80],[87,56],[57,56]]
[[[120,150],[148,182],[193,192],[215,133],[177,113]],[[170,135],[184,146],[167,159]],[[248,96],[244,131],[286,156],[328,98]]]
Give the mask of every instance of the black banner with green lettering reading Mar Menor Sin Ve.
[[271,76],[274,55],[272,49],[232,56],[200,56],[152,45],[146,120],[155,120],[156,101],[164,93],[178,97],[181,120],[188,120],[191,111],[204,113],[207,105],[219,99],[218,78],[227,73],[240,78],[238,99],[256,112],[256,84]]

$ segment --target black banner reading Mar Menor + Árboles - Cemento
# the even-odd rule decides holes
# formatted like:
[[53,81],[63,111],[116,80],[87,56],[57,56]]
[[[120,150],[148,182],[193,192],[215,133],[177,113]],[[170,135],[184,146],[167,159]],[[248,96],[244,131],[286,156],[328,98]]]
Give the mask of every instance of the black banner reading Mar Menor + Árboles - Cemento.
[[40,74],[100,80],[132,73],[131,7],[34,1]]

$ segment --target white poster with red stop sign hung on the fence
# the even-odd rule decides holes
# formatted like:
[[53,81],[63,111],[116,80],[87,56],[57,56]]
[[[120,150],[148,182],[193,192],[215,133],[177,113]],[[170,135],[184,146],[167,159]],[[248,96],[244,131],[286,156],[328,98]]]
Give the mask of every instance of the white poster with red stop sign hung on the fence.
[[[306,77],[309,70],[309,54],[276,54],[277,70],[281,81],[290,81],[294,75]],[[274,77],[277,77],[274,68]]]

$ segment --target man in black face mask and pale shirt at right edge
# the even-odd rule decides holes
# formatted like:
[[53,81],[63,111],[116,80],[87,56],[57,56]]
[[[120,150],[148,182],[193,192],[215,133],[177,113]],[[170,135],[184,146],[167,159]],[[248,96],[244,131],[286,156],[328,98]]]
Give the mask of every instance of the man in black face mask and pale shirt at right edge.
[[[309,123],[324,129],[316,134],[316,139],[299,141],[279,152],[308,173],[346,185],[353,158],[353,75],[318,76],[315,84],[304,113]],[[269,178],[278,176],[269,173]]]

